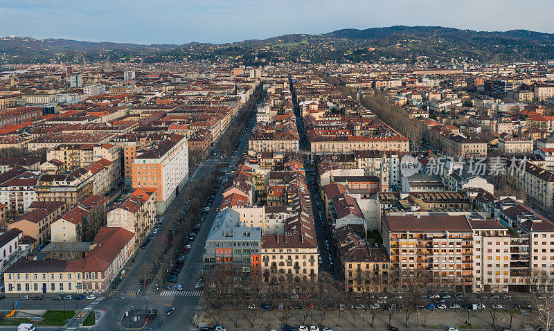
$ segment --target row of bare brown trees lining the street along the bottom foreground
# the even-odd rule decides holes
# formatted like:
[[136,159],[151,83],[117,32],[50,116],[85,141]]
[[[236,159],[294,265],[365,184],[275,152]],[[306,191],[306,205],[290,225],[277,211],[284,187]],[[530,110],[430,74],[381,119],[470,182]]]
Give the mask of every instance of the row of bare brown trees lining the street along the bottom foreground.
[[[502,294],[473,293],[463,283],[454,282],[449,289],[439,290],[436,279],[429,271],[415,270],[399,277],[401,279],[397,283],[386,283],[371,271],[360,271],[355,275],[355,287],[349,287],[348,280],[345,287],[326,273],[321,273],[319,278],[307,279],[296,278],[292,274],[277,274],[262,282],[244,273],[238,266],[216,265],[204,273],[206,287],[203,298],[213,322],[222,323],[224,316],[227,316],[235,328],[240,328],[240,321],[244,320],[254,327],[260,315],[261,324],[258,326],[262,327],[269,326],[269,319],[275,316],[288,325],[293,315],[303,325],[306,321],[313,321],[321,327],[327,319],[327,323],[336,323],[339,327],[344,314],[348,314],[354,327],[361,323],[362,328],[364,323],[373,328],[377,314],[388,319],[388,325],[393,323],[395,315],[400,314],[406,327],[409,327],[415,314],[415,326],[420,327],[425,325],[425,316],[429,312],[425,307],[434,301],[427,295],[433,293],[443,293],[447,310],[454,303],[467,310],[467,325],[471,325],[470,309],[467,308],[470,302],[479,303],[476,309],[487,312],[493,328],[497,325],[499,312],[510,317],[510,328],[515,314],[519,312],[519,307],[512,303],[511,298]],[[542,284],[544,280],[537,282]],[[530,303],[537,321],[549,331],[554,322],[553,294],[533,292]],[[260,309],[262,307],[264,309]],[[267,319],[269,309],[274,314]],[[331,312],[332,316],[329,315]]]

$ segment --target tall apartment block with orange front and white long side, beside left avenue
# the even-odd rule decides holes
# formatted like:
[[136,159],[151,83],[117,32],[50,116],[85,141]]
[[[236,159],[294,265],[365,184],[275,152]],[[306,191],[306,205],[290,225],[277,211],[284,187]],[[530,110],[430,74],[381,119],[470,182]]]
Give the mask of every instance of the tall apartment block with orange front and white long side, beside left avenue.
[[188,143],[174,134],[139,154],[132,164],[133,188],[156,190],[157,213],[163,214],[188,179]]

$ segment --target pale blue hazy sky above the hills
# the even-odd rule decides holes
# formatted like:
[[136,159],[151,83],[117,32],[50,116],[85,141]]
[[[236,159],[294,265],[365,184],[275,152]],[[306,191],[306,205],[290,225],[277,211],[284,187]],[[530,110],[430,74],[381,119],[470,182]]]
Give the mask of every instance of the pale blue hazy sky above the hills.
[[0,0],[0,37],[225,43],[394,25],[554,33],[554,0]]

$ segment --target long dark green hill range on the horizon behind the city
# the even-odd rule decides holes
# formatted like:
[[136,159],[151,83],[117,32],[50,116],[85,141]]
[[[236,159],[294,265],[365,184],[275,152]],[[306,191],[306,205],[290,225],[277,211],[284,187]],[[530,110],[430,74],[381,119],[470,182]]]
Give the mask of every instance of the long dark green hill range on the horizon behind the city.
[[226,44],[125,44],[68,39],[0,39],[2,62],[136,62],[276,60],[411,62],[420,57],[449,61],[508,62],[554,59],[554,35],[528,30],[474,31],[441,26],[343,29],[321,35],[282,35]]

